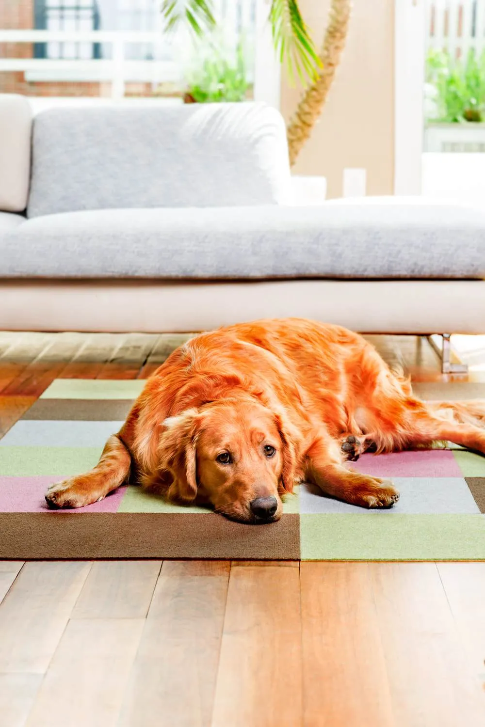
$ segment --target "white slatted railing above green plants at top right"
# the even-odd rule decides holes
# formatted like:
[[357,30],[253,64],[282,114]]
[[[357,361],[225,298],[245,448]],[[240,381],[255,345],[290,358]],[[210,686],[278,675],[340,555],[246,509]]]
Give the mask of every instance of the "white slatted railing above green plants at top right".
[[426,0],[427,47],[454,57],[485,49],[485,0]]

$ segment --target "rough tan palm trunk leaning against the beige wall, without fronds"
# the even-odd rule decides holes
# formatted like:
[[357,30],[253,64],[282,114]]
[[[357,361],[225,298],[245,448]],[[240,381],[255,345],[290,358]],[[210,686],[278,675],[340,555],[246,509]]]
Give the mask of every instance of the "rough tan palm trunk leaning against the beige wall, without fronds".
[[335,70],[345,47],[351,6],[351,0],[332,0],[329,25],[326,28],[324,44],[320,53],[322,67],[318,72],[318,79],[305,90],[286,129],[289,162],[292,166],[297,160],[302,146],[310,137],[332,85]]

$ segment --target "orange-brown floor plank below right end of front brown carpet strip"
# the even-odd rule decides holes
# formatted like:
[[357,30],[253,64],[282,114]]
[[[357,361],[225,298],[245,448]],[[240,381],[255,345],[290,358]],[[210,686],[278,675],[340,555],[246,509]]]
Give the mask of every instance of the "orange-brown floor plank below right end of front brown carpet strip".
[[232,568],[212,727],[302,724],[300,572]]

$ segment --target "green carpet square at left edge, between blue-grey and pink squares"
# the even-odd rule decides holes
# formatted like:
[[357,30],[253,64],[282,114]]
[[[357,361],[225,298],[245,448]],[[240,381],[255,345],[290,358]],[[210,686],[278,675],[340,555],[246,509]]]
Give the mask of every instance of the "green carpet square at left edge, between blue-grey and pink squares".
[[97,465],[99,447],[0,447],[0,475],[81,475]]

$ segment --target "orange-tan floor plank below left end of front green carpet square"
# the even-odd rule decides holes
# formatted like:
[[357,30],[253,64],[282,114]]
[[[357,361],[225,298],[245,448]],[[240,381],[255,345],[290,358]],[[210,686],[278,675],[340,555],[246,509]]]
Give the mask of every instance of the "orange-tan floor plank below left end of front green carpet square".
[[392,727],[366,563],[301,563],[305,727]]

